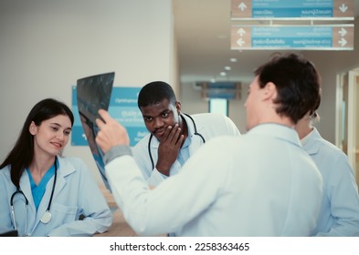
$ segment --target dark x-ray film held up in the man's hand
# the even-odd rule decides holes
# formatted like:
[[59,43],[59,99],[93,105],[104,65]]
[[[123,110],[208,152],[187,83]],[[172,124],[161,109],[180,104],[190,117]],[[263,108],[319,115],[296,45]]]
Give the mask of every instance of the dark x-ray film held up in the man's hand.
[[105,164],[103,152],[96,144],[95,138],[99,132],[96,125],[96,118],[100,118],[99,109],[108,110],[111,99],[114,72],[89,76],[78,79],[77,101],[79,108],[79,119],[84,129],[91,153],[96,165],[100,170],[100,176],[107,189],[110,189],[109,182],[105,175]]

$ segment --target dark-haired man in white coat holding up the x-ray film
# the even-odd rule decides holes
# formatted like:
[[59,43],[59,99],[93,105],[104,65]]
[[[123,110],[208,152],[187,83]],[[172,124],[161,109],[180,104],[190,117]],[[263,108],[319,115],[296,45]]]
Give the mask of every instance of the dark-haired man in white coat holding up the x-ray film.
[[140,235],[309,236],[322,176],[293,127],[319,98],[311,62],[293,54],[271,59],[249,85],[248,133],[211,139],[156,189],[132,158],[126,129],[100,110],[96,142],[124,218]]

